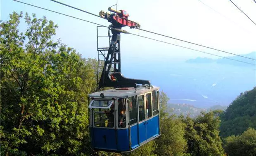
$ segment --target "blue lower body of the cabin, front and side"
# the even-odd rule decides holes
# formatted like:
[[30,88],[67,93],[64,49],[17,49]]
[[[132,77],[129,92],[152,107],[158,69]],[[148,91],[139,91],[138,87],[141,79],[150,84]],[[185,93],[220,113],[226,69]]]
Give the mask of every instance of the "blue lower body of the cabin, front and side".
[[125,129],[90,128],[91,147],[102,151],[133,151],[159,135],[159,115]]

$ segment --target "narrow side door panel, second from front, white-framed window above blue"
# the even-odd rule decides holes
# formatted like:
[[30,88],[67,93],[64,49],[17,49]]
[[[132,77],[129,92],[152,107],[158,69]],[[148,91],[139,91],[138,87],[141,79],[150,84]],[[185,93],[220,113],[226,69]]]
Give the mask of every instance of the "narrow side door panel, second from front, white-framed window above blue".
[[139,142],[143,144],[147,141],[147,126],[145,113],[145,96],[144,94],[138,96],[138,114],[139,114]]

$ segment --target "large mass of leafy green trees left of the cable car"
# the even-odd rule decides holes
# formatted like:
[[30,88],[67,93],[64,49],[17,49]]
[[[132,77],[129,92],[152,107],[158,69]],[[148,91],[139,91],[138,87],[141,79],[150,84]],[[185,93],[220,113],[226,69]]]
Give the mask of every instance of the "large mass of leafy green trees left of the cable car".
[[1,22],[1,154],[90,153],[88,98],[95,71],[72,48],[54,42],[55,25],[22,13]]

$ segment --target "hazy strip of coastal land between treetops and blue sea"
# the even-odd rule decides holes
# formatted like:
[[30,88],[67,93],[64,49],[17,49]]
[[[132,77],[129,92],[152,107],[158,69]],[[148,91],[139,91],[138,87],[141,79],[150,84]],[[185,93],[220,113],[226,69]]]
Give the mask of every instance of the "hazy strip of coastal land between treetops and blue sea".
[[220,105],[215,105],[212,106],[211,108],[204,109],[204,108],[196,108],[192,105],[188,104],[168,104],[168,112],[169,115],[188,115],[192,118],[196,117],[197,115],[200,115],[200,112],[209,112],[210,110],[225,110],[227,106],[220,106]]

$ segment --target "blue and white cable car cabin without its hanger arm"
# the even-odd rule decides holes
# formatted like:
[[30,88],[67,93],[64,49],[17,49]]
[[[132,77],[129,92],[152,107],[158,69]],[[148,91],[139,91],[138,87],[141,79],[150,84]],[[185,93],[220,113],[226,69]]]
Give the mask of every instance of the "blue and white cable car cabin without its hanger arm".
[[89,97],[93,149],[129,152],[159,137],[159,87],[115,88]]

